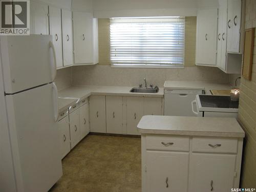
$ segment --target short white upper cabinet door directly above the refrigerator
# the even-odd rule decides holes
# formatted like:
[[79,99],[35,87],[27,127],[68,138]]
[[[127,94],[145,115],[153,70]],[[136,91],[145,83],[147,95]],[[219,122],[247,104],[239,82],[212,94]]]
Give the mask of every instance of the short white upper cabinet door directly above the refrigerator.
[[33,34],[49,35],[48,5],[31,2],[31,28]]

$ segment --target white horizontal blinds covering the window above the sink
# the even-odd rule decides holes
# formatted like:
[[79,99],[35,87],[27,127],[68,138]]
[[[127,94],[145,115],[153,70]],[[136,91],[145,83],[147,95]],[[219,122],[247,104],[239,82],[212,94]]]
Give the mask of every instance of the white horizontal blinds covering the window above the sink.
[[185,19],[110,19],[111,62],[116,67],[184,67]]

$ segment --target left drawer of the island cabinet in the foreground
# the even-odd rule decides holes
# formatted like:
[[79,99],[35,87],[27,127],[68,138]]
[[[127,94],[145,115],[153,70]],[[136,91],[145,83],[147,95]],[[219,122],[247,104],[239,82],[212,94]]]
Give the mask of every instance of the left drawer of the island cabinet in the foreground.
[[146,136],[147,150],[189,151],[189,137]]

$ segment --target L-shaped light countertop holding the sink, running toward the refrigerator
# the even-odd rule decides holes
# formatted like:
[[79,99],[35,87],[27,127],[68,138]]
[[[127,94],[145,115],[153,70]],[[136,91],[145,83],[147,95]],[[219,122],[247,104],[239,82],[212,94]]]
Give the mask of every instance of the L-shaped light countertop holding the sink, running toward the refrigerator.
[[163,98],[163,88],[159,88],[158,93],[131,93],[133,87],[115,86],[71,86],[58,92],[59,111],[64,110],[79,100],[91,95],[112,95],[112,96],[136,96],[136,97],[161,97]]

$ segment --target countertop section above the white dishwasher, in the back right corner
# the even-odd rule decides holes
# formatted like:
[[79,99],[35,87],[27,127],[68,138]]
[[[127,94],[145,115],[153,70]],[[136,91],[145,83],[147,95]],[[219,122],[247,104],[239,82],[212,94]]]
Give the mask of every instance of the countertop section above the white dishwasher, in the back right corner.
[[230,90],[231,84],[207,81],[165,81],[164,89],[204,90],[205,94],[211,94],[210,90]]

